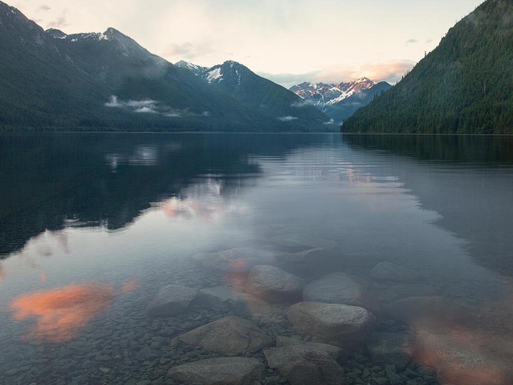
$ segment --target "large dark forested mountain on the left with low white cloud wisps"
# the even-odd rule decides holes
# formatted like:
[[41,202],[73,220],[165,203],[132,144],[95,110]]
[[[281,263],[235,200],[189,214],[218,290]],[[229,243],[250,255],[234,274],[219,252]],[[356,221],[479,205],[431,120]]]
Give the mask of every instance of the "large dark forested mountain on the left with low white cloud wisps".
[[277,118],[114,28],[45,31],[0,2],[0,130],[320,131],[328,119]]

